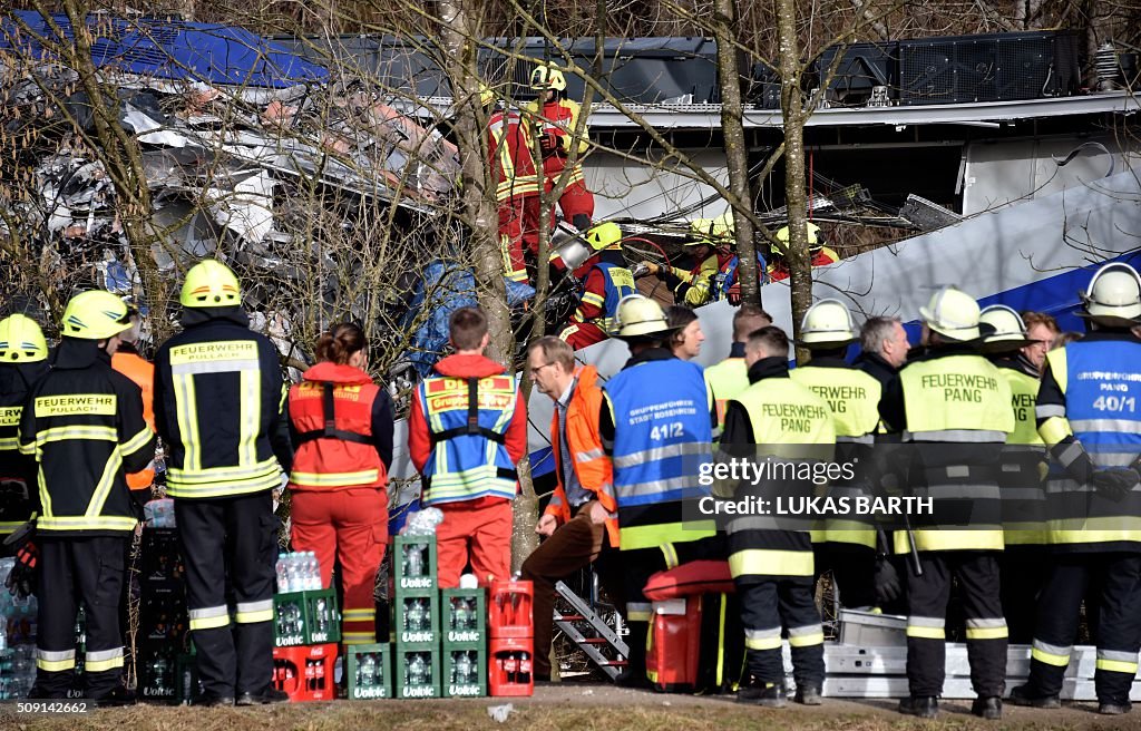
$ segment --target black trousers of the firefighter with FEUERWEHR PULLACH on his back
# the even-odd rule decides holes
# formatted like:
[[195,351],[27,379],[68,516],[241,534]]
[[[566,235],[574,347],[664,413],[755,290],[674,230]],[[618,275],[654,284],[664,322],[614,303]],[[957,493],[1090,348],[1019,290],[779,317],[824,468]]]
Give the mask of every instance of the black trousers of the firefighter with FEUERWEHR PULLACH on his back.
[[83,697],[99,699],[123,674],[119,620],[127,538],[51,538],[41,533],[34,695],[66,698],[75,679],[75,617],[84,607]]

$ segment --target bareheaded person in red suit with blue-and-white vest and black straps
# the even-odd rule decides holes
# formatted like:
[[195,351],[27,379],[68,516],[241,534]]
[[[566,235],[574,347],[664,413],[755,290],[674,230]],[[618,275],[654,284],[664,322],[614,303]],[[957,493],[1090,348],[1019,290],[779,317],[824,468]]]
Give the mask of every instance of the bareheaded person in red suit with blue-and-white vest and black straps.
[[487,316],[462,307],[448,325],[455,355],[435,365],[408,411],[420,503],[444,513],[436,528],[442,588],[459,586],[469,561],[483,585],[510,578],[516,465],[527,453],[527,407],[518,383],[483,355]]

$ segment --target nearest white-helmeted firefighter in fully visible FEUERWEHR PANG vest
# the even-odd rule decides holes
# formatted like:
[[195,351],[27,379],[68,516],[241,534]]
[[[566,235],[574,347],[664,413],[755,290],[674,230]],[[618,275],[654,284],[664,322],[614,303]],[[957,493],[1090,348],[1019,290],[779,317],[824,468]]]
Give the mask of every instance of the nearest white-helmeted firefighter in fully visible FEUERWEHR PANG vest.
[[[1003,446],[1014,430],[1011,390],[998,368],[979,355],[979,304],[971,295],[942,287],[920,308],[920,318],[928,352],[899,371],[880,406],[883,420],[903,430],[911,444],[907,484],[913,496],[933,503],[932,514],[912,518],[917,557],[907,563],[909,696],[899,710],[923,718],[938,715],[947,596],[957,577],[978,693],[971,713],[998,718],[1008,643],[998,591],[998,480]],[[906,553],[908,543],[907,533],[896,533],[898,553]]]

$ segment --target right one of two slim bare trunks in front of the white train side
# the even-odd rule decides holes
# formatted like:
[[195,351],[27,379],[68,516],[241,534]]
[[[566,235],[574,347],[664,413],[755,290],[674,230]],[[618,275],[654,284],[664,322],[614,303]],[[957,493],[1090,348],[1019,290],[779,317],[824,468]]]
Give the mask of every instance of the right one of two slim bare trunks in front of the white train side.
[[[788,211],[788,282],[792,290],[793,335],[812,304],[812,265],[808,249],[807,196],[804,194],[804,100],[800,91],[800,47],[796,40],[796,3],[777,0],[777,31],[780,36],[780,108],[785,130],[785,204]],[[798,363],[808,351],[796,349]]]

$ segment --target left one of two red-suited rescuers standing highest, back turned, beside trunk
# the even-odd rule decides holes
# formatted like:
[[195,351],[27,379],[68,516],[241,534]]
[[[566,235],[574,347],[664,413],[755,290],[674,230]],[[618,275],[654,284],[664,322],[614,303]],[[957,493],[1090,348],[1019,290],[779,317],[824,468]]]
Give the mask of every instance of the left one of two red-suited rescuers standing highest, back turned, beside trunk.
[[[495,94],[484,88],[479,101],[488,109],[487,160],[491,162],[495,201],[499,206],[500,245],[503,268],[513,282],[527,281],[524,251],[539,251],[540,169],[534,159],[529,124],[517,109],[495,109]],[[548,229],[555,226],[548,213]]]

